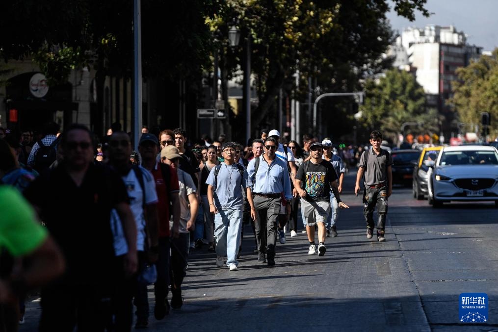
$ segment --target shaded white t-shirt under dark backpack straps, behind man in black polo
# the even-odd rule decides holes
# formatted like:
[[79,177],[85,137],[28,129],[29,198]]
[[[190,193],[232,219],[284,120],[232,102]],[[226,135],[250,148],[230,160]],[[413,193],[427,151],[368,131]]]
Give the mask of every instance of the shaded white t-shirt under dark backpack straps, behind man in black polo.
[[[155,181],[150,174],[142,166],[140,170],[143,176],[143,186],[145,189],[145,205],[157,203],[157,193],[155,190]],[[143,251],[145,246],[145,216],[143,212],[143,192],[140,187],[140,182],[136,178],[135,171],[130,169],[126,176],[122,177],[126,191],[129,197],[129,207],[133,218],[136,222],[136,249],[138,251]],[[126,239],[124,237],[123,225],[121,224],[120,217],[116,210],[111,211],[111,228],[114,235],[114,251],[117,256],[124,255],[128,252],[128,245],[126,244]]]

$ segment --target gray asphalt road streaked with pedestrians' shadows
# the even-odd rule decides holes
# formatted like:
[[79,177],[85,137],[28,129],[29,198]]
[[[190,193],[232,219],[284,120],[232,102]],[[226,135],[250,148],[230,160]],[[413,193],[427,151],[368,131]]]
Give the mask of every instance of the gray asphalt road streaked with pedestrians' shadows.
[[[356,174],[346,177],[336,238],[308,255],[300,231],[277,244],[276,266],[258,264],[246,227],[240,269],[217,268],[207,248],[192,250],[184,306],[153,318],[148,331],[492,331],[498,330],[498,209],[494,204],[417,201],[411,188],[389,199],[386,242],[367,240]],[[299,225],[301,227],[301,225]],[[459,323],[460,293],[489,296],[489,321]],[[36,300],[31,298],[30,301]],[[29,302],[26,324],[39,315]]]

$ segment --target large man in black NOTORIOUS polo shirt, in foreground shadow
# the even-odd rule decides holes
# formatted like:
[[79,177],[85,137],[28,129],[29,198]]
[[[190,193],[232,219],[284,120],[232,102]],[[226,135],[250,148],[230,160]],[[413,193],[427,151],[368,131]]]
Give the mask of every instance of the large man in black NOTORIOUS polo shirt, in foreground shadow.
[[91,132],[75,124],[62,133],[64,162],[43,172],[24,191],[60,246],[64,275],[42,290],[40,331],[104,331],[111,321],[113,282],[122,273],[114,259],[111,210],[123,223],[128,253],[124,269],[136,271],[136,225],[123,181],[93,163]]

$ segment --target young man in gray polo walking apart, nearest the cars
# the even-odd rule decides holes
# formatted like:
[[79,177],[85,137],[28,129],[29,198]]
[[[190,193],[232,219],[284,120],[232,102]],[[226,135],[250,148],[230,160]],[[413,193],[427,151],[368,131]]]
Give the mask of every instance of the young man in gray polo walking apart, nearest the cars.
[[384,227],[387,215],[387,198],[392,194],[392,158],[391,154],[380,148],[382,134],[377,130],[370,134],[372,149],[363,152],[360,157],[360,168],[356,175],[355,194],[360,192],[360,181],[365,174],[363,203],[365,208],[363,214],[367,221],[367,238],[373,236],[373,211],[377,206],[377,240],[385,241]]

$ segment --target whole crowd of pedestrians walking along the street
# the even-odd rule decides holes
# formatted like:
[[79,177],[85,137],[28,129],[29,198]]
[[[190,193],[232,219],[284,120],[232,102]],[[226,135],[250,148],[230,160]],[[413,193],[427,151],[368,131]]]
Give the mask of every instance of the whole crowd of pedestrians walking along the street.
[[298,216],[308,254],[323,256],[326,238],[338,236],[339,210],[349,208],[340,195],[356,164],[357,195],[365,174],[367,238],[376,207],[377,240],[385,240],[392,160],[377,131],[367,153],[308,135],[301,146],[275,129],[245,145],[144,126],[136,151],[119,124],[100,141],[80,124],[59,133],[47,123],[31,137],[0,139],[0,197],[12,196],[0,199],[8,212],[0,218],[0,331],[23,323],[35,287],[40,331],[130,331],[133,321],[146,328],[147,285],[157,320],[181,309],[190,250],[207,248],[213,265],[237,271],[244,224],[258,263],[277,264],[277,242],[298,235]]

